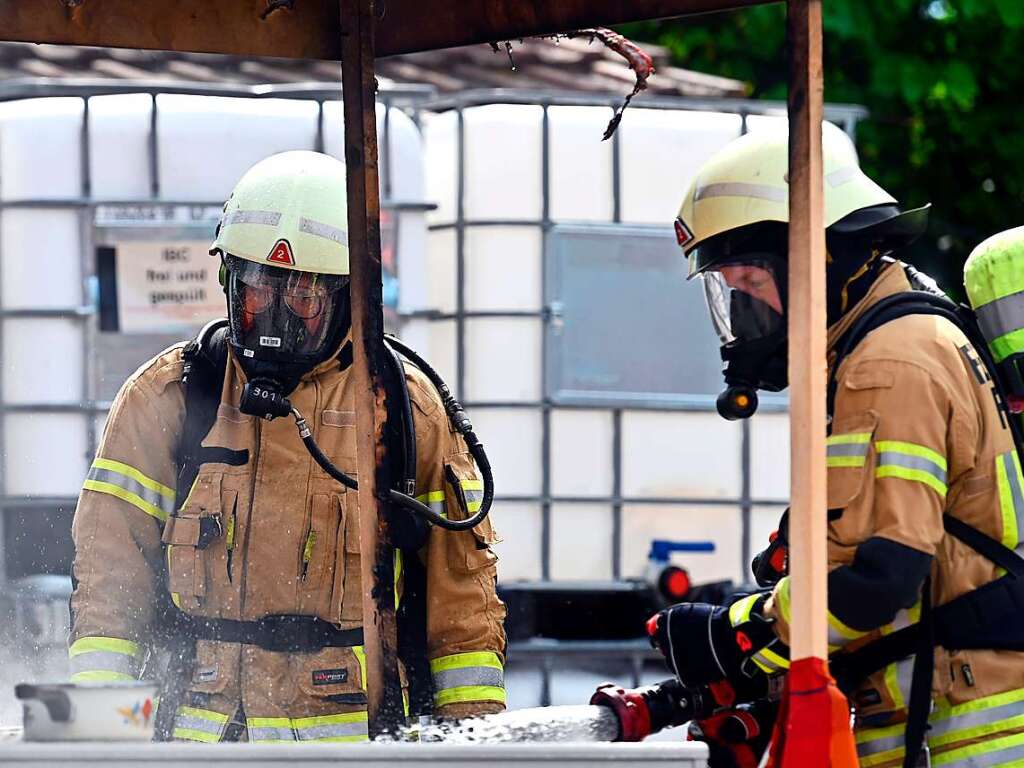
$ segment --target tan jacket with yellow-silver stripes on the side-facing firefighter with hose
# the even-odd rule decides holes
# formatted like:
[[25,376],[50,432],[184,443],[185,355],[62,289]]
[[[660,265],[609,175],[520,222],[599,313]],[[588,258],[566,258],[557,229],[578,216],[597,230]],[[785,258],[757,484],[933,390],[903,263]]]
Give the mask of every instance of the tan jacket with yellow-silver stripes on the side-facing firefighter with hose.
[[[829,329],[829,348],[868,306],[907,290],[902,266],[887,267]],[[877,329],[842,362],[835,411],[827,442],[829,571],[853,563],[867,540],[882,538],[933,558],[933,605],[1001,575],[942,524],[949,513],[1011,548],[1024,536],[1024,479],[1013,439],[959,329],[923,314]],[[894,568],[898,573],[899,564]],[[788,590],[784,579],[767,606],[783,640]],[[918,621],[920,600],[876,627],[842,621],[851,601],[865,599],[829,592],[831,652]],[[912,657],[891,665],[852,697],[861,766],[901,765],[912,665]],[[933,700],[933,760],[955,766],[1024,760],[1024,653],[936,648]]]

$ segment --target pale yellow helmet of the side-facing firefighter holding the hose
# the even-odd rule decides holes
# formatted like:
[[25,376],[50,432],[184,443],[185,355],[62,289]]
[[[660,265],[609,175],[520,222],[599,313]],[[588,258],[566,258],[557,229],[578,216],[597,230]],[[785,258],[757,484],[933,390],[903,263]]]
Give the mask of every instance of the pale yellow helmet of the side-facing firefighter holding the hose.
[[[900,211],[896,200],[860,170],[850,137],[828,122],[822,124],[821,155],[826,228],[854,212],[869,209],[872,213],[857,217],[851,230],[885,226],[887,233],[899,230],[903,236],[897,236],[900,242],[921,233],[928,206]],[[785,127],[740,136],[705,163],[690,183],[676,220],[679,245],[690,257],[690,276],[709,266],[700,258],[700,244],[754,224],[788,222],[788,167]]]

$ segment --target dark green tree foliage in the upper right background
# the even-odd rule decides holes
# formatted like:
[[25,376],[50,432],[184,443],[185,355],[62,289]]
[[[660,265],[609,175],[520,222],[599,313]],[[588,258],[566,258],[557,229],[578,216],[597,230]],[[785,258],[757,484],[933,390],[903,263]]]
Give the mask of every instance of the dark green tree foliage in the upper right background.
[[[785,98],[782,3],[622,32]],[[901,203],[934,205],[906,257],[962,296],[971,249],[1024,224],[1024,0],[824,0],[824,63],[825,100],[870,110],[864,170]]]

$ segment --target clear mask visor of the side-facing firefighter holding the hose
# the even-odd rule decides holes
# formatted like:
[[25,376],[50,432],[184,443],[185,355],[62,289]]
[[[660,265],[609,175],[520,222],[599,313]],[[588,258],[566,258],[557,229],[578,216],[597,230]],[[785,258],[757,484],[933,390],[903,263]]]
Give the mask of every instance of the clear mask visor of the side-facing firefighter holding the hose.
[[785,331],[782,292],[768,259],[723,264],[700,274],[712,325],[722,346]]

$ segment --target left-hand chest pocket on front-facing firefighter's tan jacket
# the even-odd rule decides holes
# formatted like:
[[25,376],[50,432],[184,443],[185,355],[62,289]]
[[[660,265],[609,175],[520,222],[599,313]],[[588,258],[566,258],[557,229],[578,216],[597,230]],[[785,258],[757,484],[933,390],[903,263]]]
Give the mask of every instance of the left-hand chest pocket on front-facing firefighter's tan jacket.
[[168,590],[182,610],[203,606],[217,585],[231,580],[237,492],[222,488],[220,475],[196,479],[184,506],[167,520]]

